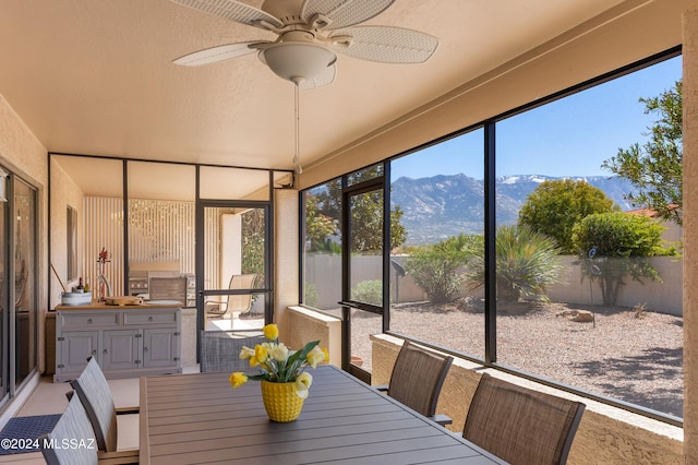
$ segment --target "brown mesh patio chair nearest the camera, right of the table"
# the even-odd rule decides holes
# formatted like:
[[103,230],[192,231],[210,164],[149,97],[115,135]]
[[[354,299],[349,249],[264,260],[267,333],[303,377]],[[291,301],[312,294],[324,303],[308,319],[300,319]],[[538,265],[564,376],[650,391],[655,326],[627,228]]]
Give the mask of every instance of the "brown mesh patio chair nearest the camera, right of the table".
[[585,404],[482,374],[462,436],[512,464],[564,464]]

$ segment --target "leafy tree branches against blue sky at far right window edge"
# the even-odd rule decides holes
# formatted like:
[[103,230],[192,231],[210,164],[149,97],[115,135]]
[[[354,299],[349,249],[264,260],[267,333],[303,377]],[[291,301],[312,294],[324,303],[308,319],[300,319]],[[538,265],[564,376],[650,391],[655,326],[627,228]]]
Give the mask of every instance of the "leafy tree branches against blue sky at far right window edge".
[[637,189],[626,195],[635,206],[658,212],[663,219],[683,223],[683,99],[682,81],[657,97],[640,98],[645,114],[658,114],[649,141],[636,143],[601,165],[626,178]]

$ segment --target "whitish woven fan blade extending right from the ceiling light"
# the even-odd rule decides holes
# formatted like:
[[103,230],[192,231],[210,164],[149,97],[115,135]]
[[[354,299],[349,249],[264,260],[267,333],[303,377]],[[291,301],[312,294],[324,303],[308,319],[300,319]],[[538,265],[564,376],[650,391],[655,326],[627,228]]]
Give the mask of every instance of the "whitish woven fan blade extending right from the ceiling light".
[[329,39],[333,50],[383,63],[423,63],[438,46],[434,36],[392,26],[351,27],[330,34]]

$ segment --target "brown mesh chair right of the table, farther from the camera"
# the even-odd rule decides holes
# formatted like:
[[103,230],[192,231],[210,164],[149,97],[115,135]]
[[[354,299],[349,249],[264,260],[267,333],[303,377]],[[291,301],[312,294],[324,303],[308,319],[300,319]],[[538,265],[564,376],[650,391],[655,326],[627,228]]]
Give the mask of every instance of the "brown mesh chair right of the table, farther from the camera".
[[387,391],[390,397],[442,426],[450,425],[448,416],[436,415],[436,403],[453,361],[453,357],[405,341],[393,367],[390,384],[376,389]]

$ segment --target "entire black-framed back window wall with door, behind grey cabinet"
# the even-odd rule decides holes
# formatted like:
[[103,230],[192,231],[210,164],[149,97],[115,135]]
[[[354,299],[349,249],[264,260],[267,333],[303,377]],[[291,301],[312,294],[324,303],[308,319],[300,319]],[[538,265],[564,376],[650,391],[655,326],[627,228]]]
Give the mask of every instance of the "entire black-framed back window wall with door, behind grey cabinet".
[[[50,215],[51,307],[60,303],[56,290],[77,277],[89,281],[95,300],[184,301],[188,368],[196,366],[201,330],[270,320],[272,183],[288,188],[290,171],[59,154],[50,166],[51,210],[74,212],[77,225],[73,240],[73,215]],[[69,272],[72,262],[79,266]]]

